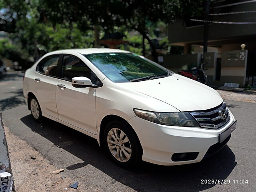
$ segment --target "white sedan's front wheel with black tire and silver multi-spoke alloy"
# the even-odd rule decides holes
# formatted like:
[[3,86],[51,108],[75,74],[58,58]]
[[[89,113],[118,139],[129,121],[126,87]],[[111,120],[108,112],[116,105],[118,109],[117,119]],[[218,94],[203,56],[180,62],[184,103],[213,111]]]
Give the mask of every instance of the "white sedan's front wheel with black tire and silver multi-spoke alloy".
[[140,142],[128,123],[108,123],[104,130],[104,147],[110,158],[124,168],[136,167],[142,161]]

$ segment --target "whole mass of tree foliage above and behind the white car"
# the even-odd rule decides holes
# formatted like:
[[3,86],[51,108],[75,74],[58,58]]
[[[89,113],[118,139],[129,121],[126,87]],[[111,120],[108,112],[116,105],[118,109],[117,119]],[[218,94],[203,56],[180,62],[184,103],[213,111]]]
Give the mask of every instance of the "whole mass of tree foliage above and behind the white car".
[[[92,47],[99,34],[116,31],[129,41],[119,48],[141,54],[142,39],[146,39],[146,49],[152,50],[156,60],[151,41],[154,28],[159,22],[199,14],[202,1],[0,0],[0,30],[9,33],[17,50],[26,50],[23,58],[30,61],[52,50]],[[130,36],[130,31],[138,35]],[[168,45],[166,40],[162,43]]]

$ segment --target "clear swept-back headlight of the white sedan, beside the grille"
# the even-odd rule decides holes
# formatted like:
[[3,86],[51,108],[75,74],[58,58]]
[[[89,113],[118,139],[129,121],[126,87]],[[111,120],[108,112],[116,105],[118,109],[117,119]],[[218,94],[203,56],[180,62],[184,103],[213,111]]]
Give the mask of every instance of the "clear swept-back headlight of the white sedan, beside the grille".
[[172,126],[199,127],[198,122],[188,112],[151,112],[134,109],[135,114],[145,120]]

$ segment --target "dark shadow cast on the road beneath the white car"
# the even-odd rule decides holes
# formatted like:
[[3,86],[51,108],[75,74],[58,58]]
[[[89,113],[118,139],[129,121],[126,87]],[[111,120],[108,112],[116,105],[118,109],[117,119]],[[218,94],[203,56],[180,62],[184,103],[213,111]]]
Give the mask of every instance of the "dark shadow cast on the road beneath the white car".
[[84,161],[70,164],[66,167],[68,170],[90,164],[113,178],[113,183],[120,182],[138,192],[202,191],[216,184],[201,184],[201,180],[226,179],[237,164],[234,153],[226,145],[216,155],[196,164],[158,166],[142,162],[138,168],[123,169],[114,164],[90,136],[49,119],[43,124],[34,122],[31,115],[20,120],[33,132]]

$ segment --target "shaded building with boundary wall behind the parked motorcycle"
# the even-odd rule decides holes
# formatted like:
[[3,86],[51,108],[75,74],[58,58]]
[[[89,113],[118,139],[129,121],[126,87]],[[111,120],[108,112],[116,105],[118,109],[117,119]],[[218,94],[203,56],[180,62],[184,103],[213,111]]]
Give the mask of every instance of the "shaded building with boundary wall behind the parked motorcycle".
[[[216,53],[216,63],[208,64],[209,83],[223,85],[225,82],[236,82],[240,86],[256,84],[256,2],[211,2],[208,20],[220,22],[208,24],[208,52],[213,55]],[[189,20],[170,23],[168,39],[171,44],[184,46],[184,54],[202,55],[204,22]],[[246,45],[246,51],[241,51],[241,44]]]

